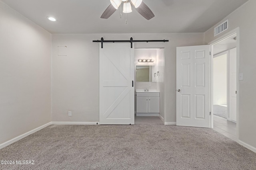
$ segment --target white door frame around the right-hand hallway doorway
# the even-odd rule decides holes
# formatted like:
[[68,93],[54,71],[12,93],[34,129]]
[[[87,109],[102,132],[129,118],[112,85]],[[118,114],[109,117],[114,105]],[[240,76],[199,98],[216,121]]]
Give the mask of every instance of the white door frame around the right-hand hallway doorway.
[[240,90],[239,90],[239,59],[240,59],[240,32],[239,32],[239,27],[233,29],[232,31],[229,31],[228,33],[214,39],[213,41],[211,41],[210,43],[208,43],[208,45],[210,45],[210,51],[211,51],[211,59],[210,59],[210,74],[211,74],[211,78],[210,78],[210,110],[211,110],[211,128],[213,128],[213,46],[221,41],[223,41],[224,39],[227,39],[231,36],[233,36],[234,34],[236,34],[236,141],[238,141],[239,139],[239,94],[240,94]]

